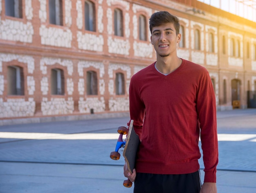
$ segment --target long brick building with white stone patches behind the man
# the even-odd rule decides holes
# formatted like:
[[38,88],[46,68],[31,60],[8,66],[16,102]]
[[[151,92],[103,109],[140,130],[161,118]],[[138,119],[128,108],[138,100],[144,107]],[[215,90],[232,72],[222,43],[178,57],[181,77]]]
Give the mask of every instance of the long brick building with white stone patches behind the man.
[[180,18],[178,55],[209,70],[218,110],[250,107],[247,91],[254,107],[256,20],[202,0],[0,0],[0,119],[128,112],[162,10]]

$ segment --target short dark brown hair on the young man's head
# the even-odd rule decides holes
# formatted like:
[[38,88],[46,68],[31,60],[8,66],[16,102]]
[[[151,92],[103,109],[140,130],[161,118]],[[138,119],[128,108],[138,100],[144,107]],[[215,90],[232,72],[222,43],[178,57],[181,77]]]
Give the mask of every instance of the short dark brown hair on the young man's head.
[[172,15],[168,11],[158,11],[153,13],[149,19],[149,29],[152,34],[152,28],[155,26],[160,26],[166,23],[173,23],[176,34],[180,33],[180,20],[176,16]]

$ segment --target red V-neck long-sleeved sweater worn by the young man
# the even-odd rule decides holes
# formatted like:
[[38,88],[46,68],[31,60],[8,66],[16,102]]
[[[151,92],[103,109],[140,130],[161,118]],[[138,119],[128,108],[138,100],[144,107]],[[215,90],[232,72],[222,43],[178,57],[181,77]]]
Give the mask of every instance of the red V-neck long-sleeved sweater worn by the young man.
[[130,82],[130,119],[141,139],[136,171],[184,174],[198,171],[203,150],[204,182],[216,182],[216,100],[209,72],[183,59],[165,76],[155,63]]

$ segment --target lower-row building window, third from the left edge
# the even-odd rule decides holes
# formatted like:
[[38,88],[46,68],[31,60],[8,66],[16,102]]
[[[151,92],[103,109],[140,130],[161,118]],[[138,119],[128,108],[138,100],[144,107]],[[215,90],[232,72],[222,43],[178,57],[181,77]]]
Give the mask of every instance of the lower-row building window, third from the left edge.
[[97,95],[98,94],[98,81],[97,81],[97,73],[94,71],[88,71],[87,75],[87,94],[88,95]]

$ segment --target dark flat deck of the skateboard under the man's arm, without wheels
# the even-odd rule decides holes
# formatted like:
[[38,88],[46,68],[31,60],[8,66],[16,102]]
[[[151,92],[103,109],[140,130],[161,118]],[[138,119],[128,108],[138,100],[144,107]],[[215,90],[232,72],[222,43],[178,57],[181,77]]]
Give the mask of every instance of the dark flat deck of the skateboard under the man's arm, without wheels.
[[123,156],[126,160],[129,172],[132,173],[132,170],[135,168],[137,149],[140,144],[139,136],[136,134],[133,128],[133,120],[130,121],[128,130],[129,132],[126,136]]

